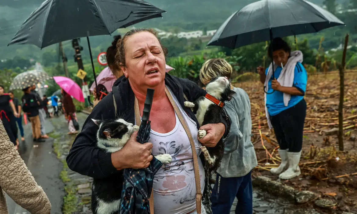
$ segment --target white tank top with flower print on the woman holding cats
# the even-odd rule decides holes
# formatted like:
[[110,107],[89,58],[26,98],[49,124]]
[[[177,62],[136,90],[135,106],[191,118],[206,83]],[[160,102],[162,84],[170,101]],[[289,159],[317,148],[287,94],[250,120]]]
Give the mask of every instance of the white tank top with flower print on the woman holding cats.
[[[195,142],[198,167],[201,178],[201,193],[205,185],[205,171],[201,159],[201,143],[197,139],[197,125],[181,108],[180,103],[169,89]],[[154,213],[186,214],[196,209],[196,184],[190,140],[176,112],[175,128],[168,133],[151,130],[152,155],[170,154],[171,164],[162,165],[154,176]]]

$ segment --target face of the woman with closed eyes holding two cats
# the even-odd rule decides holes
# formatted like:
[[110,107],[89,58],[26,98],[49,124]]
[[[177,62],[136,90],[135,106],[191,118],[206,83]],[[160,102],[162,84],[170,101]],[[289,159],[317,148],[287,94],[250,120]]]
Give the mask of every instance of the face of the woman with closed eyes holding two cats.
[[165,79],[165,55],[159,40],[149,32],[131,35],[125,42],[122,71],[134,87],[156,87]]

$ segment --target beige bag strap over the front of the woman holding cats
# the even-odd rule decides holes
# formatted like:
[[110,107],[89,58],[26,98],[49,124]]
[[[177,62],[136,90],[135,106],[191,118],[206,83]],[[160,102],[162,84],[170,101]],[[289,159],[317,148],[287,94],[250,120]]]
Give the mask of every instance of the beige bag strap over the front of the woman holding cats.
[[[180,110],[178,110],[178,107],[172,98],[169,90],[165,88],[165,92],[167,94],[167,97],[169,97],[169,100],[172,104],[172,107],[174,107],[174,110],[177,114],[178,119],[180,120],[183,128],[186,131],[186,134],[188,136],[188,139],[190,140],[191,143],[191,149],[192,149],[192,155],[193,155],[193,167],[195,171],[195,181],[196,181],[196,210],[198,214],[201,214],[201,200],[202,200],[202,194],[201,194],[201,180],[200,180],[200,171],[198,168],[198,160],[197,160],[197,155],[196,155],[196,148],[195,148],[195,143],[193,142],[193,138],[191,135],[190,130],[187,127],[187,124],[185,120],[183,120],[183,117],[180,113]],[[186,96],[185,96],[186,98]],[[186,98],[187,99],[187,98]],[[116,106],[115,106],[116,107]],[[135,97],[135,102],[134,102],[134,111],[135,111],[135,121],[136,125],[140,126],[141,120],[140,120],[140,112],[139,112],[139,103]],[[153,197],[153,191],[151,191],[151,196],[149,199],[149,205],[150,205],[150,214],[154,214],[154,197]]]

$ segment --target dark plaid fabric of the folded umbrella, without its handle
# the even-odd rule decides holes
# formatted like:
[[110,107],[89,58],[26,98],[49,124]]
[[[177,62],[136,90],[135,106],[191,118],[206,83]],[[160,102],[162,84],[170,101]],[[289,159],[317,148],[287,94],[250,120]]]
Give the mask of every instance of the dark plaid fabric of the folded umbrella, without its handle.
[[120,214],[149,214],[154,175],[162,164],[155,157],[146,169],[125,169]]

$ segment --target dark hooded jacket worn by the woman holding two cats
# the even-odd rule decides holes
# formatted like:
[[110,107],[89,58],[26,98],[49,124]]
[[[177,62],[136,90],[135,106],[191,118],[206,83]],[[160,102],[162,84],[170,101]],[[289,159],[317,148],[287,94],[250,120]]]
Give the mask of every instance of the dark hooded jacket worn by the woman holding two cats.
[[[188,101],[193,102],[197,98],[205,96],[206,91],[188,79],[171,76],[168,73],[166,73],[165,76],[165,84],[171,89],[173,95],[178,99],[187,115],[197,123],[197,127],[200,127],[193,112],[183,104],[185,101],[184,94]],[[122,119],[127,122],[135,123],[135,96],[128,79],[124,76],[117,79],[112,87],[112,91],[114,92],[117,104],[117,115],[120,115]],[[123,170],[117,170],[113,166],[110,153],[106,153],[96,147],[96,133],[98,126],[91,120],[91,118],[97,120],[109,120],[115,118],[113,92],[105,96],[93,108],[93,111],[84,122],[82,131],[74,140],[66,159],[67,165],[72,171],[96,179],[106,178],[114,173],[123,173]],[[226,137],[229,133],[231,121],[230,118],[226,119],[225,115],[222,115],[222,118],[224,118],[223,121],[225,121],[224,124],[226,126],[226,131],[223,137]],[[201,154],[200,157],[202,160],[203,154]]]

